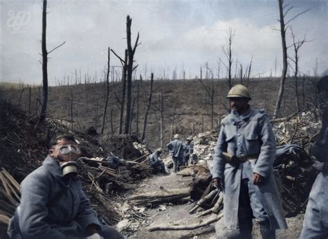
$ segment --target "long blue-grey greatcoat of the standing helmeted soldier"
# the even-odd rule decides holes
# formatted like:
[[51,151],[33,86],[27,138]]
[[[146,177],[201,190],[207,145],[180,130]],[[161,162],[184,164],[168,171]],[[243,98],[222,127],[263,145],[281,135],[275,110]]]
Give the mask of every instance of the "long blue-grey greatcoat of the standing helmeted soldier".
[[[273,175],[275,159],[275,136],[264,110],[250,107],[236,121],[232,112],[221,123],[219,139],[215,147],[212,177],[219,177],[224,191],[224,220],[228,229],[237,229],[239,191],[242,178],[253,180],[253,172],[264,177],[259,185],[254,185],[255,194],[268,214],[271,229],[285,229],[286,220],[282,211],[280,195]],[[222,152],[233,155],[259,155],[257,161],[246,161],[233,167],[226,163]]]

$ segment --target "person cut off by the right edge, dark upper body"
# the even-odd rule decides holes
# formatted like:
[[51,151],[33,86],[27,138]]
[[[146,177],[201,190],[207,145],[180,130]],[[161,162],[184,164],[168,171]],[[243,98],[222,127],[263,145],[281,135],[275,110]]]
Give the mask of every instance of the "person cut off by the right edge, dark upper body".
[[318,82],[319,108],[322,113],[322,128],[312,149],[312,154],[323,163],[309,195],[300,238],[328,238],[328,69]]

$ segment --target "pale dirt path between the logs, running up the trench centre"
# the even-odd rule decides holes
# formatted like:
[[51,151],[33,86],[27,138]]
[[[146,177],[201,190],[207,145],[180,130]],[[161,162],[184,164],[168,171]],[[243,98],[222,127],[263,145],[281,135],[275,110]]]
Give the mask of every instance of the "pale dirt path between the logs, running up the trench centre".
[[[133,193],[145,193],[152,191],[161,191],[160,187],[167,189],[173,188],[189,188],[192,184],[192,177],[182,177],[175,174],[170,175],[154,175],[144,179]],[[137,231],[132,233],[129,238],[210,238],[214,233],[214,224],[210,227],[204,227],[197,230],[182,230],[182,231],[148,231],[149,225],[163,224],[165,222],[175,222],[184,220],[192,222],[196,215],[190,215],[189,210],[194,206],[193,202],[186,202],[185,204],[161,204],[153,209],[145,209],[148,218],[140,218],[140,227]]]

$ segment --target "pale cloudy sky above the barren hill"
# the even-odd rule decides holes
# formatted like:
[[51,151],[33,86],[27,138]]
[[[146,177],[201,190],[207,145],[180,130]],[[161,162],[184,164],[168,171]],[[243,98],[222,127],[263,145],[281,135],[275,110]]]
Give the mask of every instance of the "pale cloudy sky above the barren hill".
[[[328,67],[328,1],[285,1],[294,6],[286,19],[310,9],[290,25],[296,39],[306,35],[311,40],[300,49],[300,71],[313,74],[318,61],[320,73]],[[0,81],[40,84],[42,0],[0,0],[0,8]],[[146,64],[147,76],[163,69],[172,76],[176,68],[178,77],[184,69],[187,78],[194,78],[206,62],[217,71],[219,58],[226,62],[222,46],[229,28],[235,31],[234,68],[236,61],[245,68],[253,56],[253,76],[274,75],[275,58],[277,75],[281,71],[280,32],[273,30],[280,27],[277,0],[49,0],[48,12],[48,51],[66,41],[49,55],[52,85],[55,78],[73,77],[75,69],[82,76],[88,71],[100,76],[109,46],[122,56],[127,15],[133,41],[139,32],[142,42],[135,55],[138,75],[145,75]],[[119,65],[111,59],[111,65]]]

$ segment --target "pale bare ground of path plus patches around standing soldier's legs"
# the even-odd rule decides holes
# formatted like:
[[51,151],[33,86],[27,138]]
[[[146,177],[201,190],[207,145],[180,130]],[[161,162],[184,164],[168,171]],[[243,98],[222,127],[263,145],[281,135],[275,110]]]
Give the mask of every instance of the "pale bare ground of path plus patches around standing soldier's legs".
[[[136,193],[145,193],[152,191],[161,191],[161,188],[187,188],[192,184],[192,177],[182,177],[173,173],[169,175],[154,175],[150,178],[143,179],[138,182],[136,188],[125,194],[135,195]],[[161,187],[161,188],[160,188]],[[131,204],[132,202],[127,202]],[[138,205],[140,207],[140,205]],[[190,215],[189,210],[194,206],[194,202],[185,202],[184,204],[161,204],[154,208],[146,208],[145,218],[136,218],[136,222],[131,222],[131,227],[127,227],[122,232],[129,238],[215,238],[215,224],[212,223],[207,227],[195,230],[180,230],[180,231],[148,231],[149,226],[183,221],[191,224],[199,213]],[[207,218],[205,216],[204,218]],[[277,231],[277,238],[294,239],[299,238],[302,229],[303,214],[297,215],[293,218],[287,218],[289,229]],[[132,230],[132,231],[131,231]],[[261,238],[259,236],[259,227],[254,220],[253,238]]]

